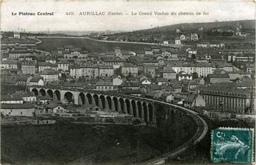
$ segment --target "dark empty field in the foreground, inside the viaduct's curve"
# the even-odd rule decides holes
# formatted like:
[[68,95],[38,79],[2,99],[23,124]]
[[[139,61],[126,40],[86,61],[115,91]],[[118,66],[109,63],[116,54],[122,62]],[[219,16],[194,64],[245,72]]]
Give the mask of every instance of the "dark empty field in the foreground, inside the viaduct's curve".
[[[1,163],[127,164],[144,162],[187,141],[194,134],[187,118],[172,121],[180,129],[123,125],[1,126]],[[183,128],[191,128],[189,131]],[[186,133],[185,133],[186,132]]]

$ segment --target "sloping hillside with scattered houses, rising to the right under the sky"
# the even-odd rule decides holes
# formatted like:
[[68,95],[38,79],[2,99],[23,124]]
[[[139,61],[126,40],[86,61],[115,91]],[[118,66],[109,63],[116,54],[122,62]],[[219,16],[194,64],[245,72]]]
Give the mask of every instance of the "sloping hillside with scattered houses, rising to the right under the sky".
[[[213,33],[212,30],[223,31],[223,33]],[[180,29],[177,33],[176,29]],[[239,30],[246,33],[247,37],[236,37],[235,33]],[[175,37],[180,34],[198,33],[199,40],[216,40],[216,42],[228,42],[230,40],[239,42],[255,42],[255,20],[244,21],[216,21],[206,23],[186,23],[175,24],[170,26],[162,26],[157,28],[144,29],[129,33],[116,33],[112,35],[103,35],[101,38],[107,40],[124,40],[131,42],[155,42],[163,43],[169,41],[173,43]],[[99,38],[97,38],[99,39]]]

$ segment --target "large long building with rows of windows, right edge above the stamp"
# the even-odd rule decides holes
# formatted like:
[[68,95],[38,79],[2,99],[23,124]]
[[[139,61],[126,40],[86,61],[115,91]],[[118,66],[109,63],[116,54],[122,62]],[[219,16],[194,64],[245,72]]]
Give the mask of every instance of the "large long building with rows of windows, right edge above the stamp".
[[213,85],[200,90],[206,107],[220,112],[255,114],[255,91]]

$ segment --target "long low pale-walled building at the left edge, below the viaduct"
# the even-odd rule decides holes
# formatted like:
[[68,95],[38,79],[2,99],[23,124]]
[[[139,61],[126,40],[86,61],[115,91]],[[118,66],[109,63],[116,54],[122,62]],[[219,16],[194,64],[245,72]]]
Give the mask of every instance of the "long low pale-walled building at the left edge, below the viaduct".
[[1,103],[3,116],[34,116],[35,106],[31,103]]

